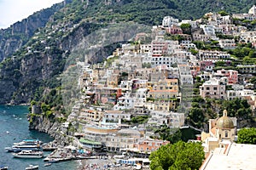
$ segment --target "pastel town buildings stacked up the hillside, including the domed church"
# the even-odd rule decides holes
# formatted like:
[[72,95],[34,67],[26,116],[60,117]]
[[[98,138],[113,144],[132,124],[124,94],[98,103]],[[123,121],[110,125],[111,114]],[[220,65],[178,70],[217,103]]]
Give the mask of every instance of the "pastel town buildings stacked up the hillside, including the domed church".
[[[247,14],[207,13],[200,20],[166,16],[161,26],[152,27],[150,35],[137,34],[103,63],[80,63],[81,95],[62,127],[79,123],[74,143],[80,148],[148,158],[152,151],[170,143],[160,139],[154,129],[188,127],[186,117],[195,96],[246,99],[254,113],[256,99],[250,78],[256,65],[237,64],[237,57],[228,53],[238,45],[256,48],[256,24],[247,25],[253,20],[255,6]],[[196,82],[201,85],[196,87]],[[235,143],[241,125],[227,114],[224,110],[223,116],[210,119],[208,133],[193,127],[201,132],[193,141],[202,142],[207,157],[201,169],[212,169],[223,156],[234,160],[241,147],[255,156],[255,145]],[[239,159],[247,161],[226,166],[253,168],[251,158]]]

